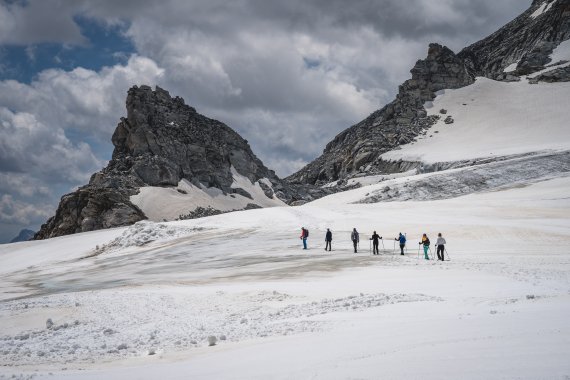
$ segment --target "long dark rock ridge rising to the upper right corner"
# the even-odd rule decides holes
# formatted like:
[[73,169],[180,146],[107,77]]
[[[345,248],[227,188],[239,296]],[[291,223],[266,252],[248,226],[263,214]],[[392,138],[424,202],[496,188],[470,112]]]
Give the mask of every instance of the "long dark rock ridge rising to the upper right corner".
[[[409,170],[413,163],[385,162],[380,156],[412,142],[447,113],[441,110],[440,115],[426,116],[424,103],[432,100],[435,92],[467,86],[476,76],[518,81],[522,75],[545,69],[529,81],[568,81],[568,68],[555,67],[562,62],[550,62],[549,58],[554,48],[568,39],[570,0],[535,0],[515,20],[457,55],[430,44],[427,58],[416,63],[412,79],[400,86],[392,103],[338,134],[320,157],[286,180],[321,185],[363,174]],[[516,62],[513,71],[504,72]],[[553,66],[551,71],[549,66]],[[453,115],[445,117],[445,122],[453,123]]]

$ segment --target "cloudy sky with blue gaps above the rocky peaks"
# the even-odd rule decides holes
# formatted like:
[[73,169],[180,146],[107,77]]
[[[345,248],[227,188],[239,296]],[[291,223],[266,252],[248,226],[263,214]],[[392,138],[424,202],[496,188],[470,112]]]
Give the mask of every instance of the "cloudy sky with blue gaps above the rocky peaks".
[[0,0],[0,243],[111,158],[133,85],[223,121],[281,177],[393,100],[430,42],[461,48],[524,0]]

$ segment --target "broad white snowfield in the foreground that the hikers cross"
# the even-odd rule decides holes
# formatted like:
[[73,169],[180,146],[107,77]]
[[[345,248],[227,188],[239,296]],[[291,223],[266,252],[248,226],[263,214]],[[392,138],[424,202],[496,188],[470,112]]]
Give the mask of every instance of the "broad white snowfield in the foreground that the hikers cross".
[[[570,177],[352,203],[380,186],[0,246],[0,377],[567,378]],[[451,261],[418,255],[424,232]]]

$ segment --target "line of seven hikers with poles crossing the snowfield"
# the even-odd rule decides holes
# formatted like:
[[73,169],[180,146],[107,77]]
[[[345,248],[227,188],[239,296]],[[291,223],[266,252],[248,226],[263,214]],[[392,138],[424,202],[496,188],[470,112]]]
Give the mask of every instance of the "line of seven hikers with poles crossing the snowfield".
[[[309,238],[309,230],[306,229],[305,227],[301,227],[301,236],[300,239],[303,241],[303,249],[307,249],[307,239]],[[352,229],[352,232],[350,234],[350,240],[352,240],[352,244],[354,245],[354,253],[358,253],[358,243],[360,243],[360,233],[356,230],[356,228]],[[372,241],[372,254],[374,255],[379,255],[380,254],[380,250],[378,248],[380,240],[384,240],[382,239],[382,236],[378,235],[376,233],[376,231],[374,231],[374,233],[372,234],[372,236],[370,237],[370,239]],[[404,255],[404,249],[406,248],[406,235],[402,234],[401,232],[399,233],[398,237],[394,239],[394,241],[399,242],[400,244],[400,255]],[[383,245],[384,243],[382,243]],[[423,251],[424,251],[424,258],[426,260],[429,260],[429,247],[430,247],[430,240],[427,237],[427,234],[423,234],[422,235],[422,241],[420,241],[418,243],[420,246],[423,246]],[[445,239],[443,238],[443,236],[441,235],[441,232],[437,234],[437,241],[435,243],[435,247],[436,247],[436,251],[437,251],[437,259],[441,260],[441,261],[445,261],[445,244],[447,244],[447,242],[445,241]],[[325,251],[331,251],[332,249],[332,232],[329,228],[327,228],[327,232],[325,234]],[[419,247],[418,247],[419,250]],[[419,255],[419,251],[418,251],[418,255]]]

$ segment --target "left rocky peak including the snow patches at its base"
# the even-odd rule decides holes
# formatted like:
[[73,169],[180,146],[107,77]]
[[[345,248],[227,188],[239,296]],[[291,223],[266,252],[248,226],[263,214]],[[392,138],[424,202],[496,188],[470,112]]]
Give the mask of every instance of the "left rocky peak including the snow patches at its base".
[[107,167],[64,195],[35,239],[294,204],[332,191],[282,181],[237,132],[158,86],[132,87],[126,107]]

